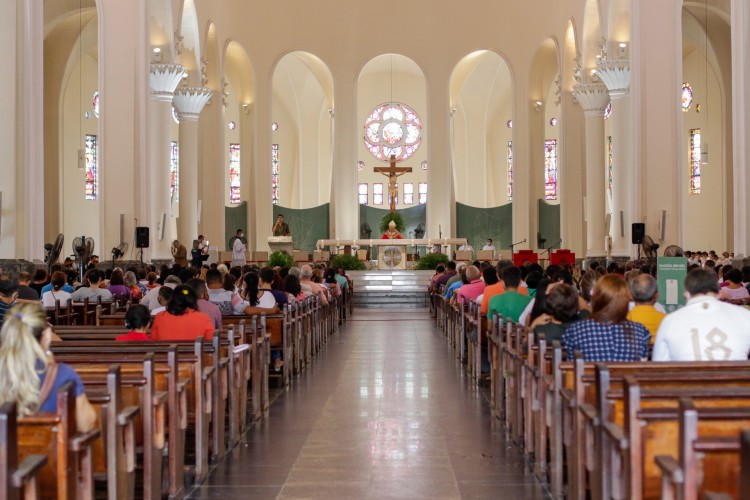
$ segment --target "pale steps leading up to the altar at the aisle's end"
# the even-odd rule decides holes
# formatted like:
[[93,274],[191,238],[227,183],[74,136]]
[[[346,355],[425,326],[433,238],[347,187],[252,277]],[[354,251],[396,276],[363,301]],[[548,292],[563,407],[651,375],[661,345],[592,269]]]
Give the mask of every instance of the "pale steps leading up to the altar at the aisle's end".
[[363,308],[427,307],[427,285],[434,274],[434,271],[347,271],[354,282],[354,307]]

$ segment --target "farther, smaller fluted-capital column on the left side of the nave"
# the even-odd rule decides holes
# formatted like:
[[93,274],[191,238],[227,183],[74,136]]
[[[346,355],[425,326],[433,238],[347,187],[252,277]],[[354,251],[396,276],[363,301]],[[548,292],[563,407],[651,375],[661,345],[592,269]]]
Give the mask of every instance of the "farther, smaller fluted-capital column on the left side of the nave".
[[198,237],[198,118],[211,89],[184,87],[174,95],[180,113],[180,218],[177,239],[190,248]]

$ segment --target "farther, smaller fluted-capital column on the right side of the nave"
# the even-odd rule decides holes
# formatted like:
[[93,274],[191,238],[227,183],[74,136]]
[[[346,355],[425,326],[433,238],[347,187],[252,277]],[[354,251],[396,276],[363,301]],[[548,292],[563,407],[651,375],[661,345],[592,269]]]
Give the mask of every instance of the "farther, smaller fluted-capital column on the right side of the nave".
[[604,110],[609,93],[604,84],[579,83],[573,87],[573,95],[586,115],[586,257],[604,257]]

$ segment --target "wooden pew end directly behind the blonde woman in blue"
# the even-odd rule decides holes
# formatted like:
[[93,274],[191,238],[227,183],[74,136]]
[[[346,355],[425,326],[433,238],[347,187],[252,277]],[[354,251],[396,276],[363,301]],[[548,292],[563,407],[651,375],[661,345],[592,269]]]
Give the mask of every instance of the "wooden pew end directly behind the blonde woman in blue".
[[99,439],[98,429],[76,432],[73,382],[57,393],[57,412],[38,413],[17,421],[18,452],[22,460],[44,455],[39,469],[39,494],[58,500],[91,500],[94,497],[91,446]]

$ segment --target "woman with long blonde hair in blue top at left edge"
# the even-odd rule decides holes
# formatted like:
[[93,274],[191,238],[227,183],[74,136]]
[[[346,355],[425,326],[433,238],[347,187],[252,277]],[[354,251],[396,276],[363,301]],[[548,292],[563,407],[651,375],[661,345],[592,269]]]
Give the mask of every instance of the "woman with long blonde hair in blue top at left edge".
[[91,430],[96,411],[75,370],[55,363],[49,353],[53,335],[38,304],[18,304],[8,311],[0,330],[0,404],[16,403],[19,417],[55,412],[58,389],[73,381],[78,430]]

